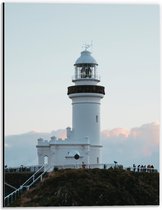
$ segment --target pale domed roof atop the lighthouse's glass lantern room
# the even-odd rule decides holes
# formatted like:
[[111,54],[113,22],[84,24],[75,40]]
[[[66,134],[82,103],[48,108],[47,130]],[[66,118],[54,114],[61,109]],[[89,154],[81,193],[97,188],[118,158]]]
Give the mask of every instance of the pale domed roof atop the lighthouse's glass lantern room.
[[76,60],[74,66],[78,66],[80,64],[93,64],[98,65],[96,60],[91,56],[91,52],[88,50],[84,50],[81,52],[80,57]]

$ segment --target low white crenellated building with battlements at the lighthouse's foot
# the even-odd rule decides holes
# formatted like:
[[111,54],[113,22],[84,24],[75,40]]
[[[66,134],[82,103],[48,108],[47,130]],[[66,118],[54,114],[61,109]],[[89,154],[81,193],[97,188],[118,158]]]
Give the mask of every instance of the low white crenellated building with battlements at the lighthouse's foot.
[[70,138],[65,140],[52,137],[50,141],[38,139],[38,164],[48,164],[51,167],[62,165],[100,164],[101,145],[91,145],[86,139],[76,143]]

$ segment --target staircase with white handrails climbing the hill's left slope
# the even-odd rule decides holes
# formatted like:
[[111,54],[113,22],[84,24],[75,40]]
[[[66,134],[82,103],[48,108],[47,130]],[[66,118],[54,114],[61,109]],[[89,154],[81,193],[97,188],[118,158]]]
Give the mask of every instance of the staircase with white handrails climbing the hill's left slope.
[[14,192],[10,193],[9,195],[5,196],[4,198],[4,206],[9,206],[13,203],[24,191],[29,190],[37,181],[42,181],[43,176],[50,167],[47,165],[43,165],[39,167],[39,169],[28,179],[26,180],[18,189]]

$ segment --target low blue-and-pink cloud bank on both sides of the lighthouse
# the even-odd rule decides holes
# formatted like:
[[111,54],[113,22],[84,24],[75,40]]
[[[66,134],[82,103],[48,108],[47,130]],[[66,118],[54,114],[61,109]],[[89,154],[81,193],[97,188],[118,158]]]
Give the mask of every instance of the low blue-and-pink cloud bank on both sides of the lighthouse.
[[[156,123],[144,124],[131,130],[115,128],[101,133],[102,162],[117,161],[124,166],[154,165],[159,169],[159,133]],[[65,138],[64,129],[51,133],[28,132],[5,137],[5,164],[8,166],[37,165],[37,139],[49,140],[51,136]]]

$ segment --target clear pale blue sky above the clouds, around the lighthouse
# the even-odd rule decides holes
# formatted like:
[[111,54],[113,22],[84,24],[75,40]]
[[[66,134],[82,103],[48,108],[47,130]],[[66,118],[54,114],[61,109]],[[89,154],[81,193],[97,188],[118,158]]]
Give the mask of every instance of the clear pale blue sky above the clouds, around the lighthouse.
[[160,118],[158,5],[25,4],[5,9],[5,133],[71,126],[73,64],[93,40],[102,130]]

